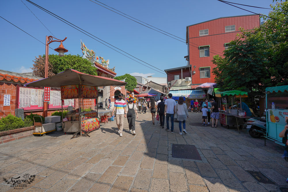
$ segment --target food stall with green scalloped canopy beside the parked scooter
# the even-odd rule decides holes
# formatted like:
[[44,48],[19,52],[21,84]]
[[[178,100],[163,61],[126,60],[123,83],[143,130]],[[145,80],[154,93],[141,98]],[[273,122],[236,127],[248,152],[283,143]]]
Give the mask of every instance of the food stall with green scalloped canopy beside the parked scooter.
[[[237,129],[239,131],[239,126],[243,126],[243,124],[245,123],[245,119],[249,119],[251,118],[250,116],[246,116],[246,115],[239,115],[237,113],[237,109],[228,109],[227,106],[227,102],[228,102],[228,97],[232,96],[232,105],[233,105],[233,96],[240,98],[240,108],[242,108],[242,104],[241,104],[241,98],[242,97],[248,97],[248,93],[244,92],[244,91],[238,91],[238,90],[232,90],[232,91],[224,91],[224,92],[217,92],[215,93],[216,97],[225,97],[226,99],[226,110],[225,111],[220,111],[219,113],[219,120],[220,120],[220,124],[221,126],[226,125],[226,127],[229,129],[229,126],[235,125],[235,120],[236,120],[236,125],[237,125]],[[221,100],[221,99],[220,99]],[[220,106],[221,106],[221,101],[220,101]],[[240,133],[240,131],[239,131]]]

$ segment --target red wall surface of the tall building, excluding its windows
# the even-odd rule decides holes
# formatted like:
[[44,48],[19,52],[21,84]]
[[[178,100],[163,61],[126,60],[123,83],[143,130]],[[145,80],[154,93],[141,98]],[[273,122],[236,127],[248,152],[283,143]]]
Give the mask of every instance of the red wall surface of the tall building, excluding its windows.
[[[234,32],[225,33],[225,26],[235,25]],[[239,28],[245,30],[253,29],[260,25],[259,15],[239,16],[221,18],[188,26],[189,29],[189,64],[196,66],[196,73],[192,73],[192,83],[214,82],[215,75],[212,69],[215,65],[212,63],[214,55],[223,55],[225,50],[224,43],[229,43],[236,38]],[[199,36],[199,30],[208,29],[209,35]],[[199,46],[210,45],[209,56],[200,57]],[[200,78],[200,67],[210,67],[210,77]],[[193,68],[192,68],[193,69]],[[181,71],[180,71],[181,72]]]

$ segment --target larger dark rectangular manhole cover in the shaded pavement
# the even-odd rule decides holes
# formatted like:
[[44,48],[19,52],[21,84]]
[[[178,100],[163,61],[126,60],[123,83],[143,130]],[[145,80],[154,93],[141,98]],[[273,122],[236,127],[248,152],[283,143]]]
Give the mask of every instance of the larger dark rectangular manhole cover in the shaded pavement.
[[201,160],[201,157],[194,145],[172,144],[172,157]]

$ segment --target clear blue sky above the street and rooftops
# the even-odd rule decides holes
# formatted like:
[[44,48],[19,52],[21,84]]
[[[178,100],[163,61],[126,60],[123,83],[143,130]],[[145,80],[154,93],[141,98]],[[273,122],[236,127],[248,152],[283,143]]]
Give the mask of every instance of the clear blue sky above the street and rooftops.
[[[67,40],[64,41],[63,44],[73,54],[82,55],[80,49],[80,39],[82,39],[90,50],[92,49],[96,52],[96,55],[102,56],[106,60],[110,59],[110,68],[115,66],[117,75],[130,73],[133,75],[143,75],[144,77],[147,75],[166,77],[165,74],[149,69],[115,52],[109,47],[43,12],[27,1],[22,1],[56,38],[64,39],[67,37]],[[107,41],[115,47],[159,69],[164,70],[186,65],[184,56],[187,55],[187,45],[185,43],[128,20],[89,0],[32,1],[83,28],[96,37]],[[269,5],[273,3],[272,0],[230,1],[268,8],[270,7]],[[101,2],[183,39],[185,39],[187,25],[218,17],[251,14],[216,0],[101,0]],[[268,9],[243,8],[262,14],[268,14],[269,12]],[[33,35],[43,43],[45,43],[46,35],[52,35],[20,0],[1,1],[0,16]],[[0,18],[0,25],[0,69],[14,72],[30,71],[31,69],[29,68],[33,67],[35,56],[38,57],[38,55],[45,54],[45,45],[20,31],[2,18]],[[54,42],[50,44],[50,47],[55,49],[59,44],[58,42]],[[70,52],[68,52],[68,54],[69,53]],[[57,54],[57,52],[49,49],[49,54]]]

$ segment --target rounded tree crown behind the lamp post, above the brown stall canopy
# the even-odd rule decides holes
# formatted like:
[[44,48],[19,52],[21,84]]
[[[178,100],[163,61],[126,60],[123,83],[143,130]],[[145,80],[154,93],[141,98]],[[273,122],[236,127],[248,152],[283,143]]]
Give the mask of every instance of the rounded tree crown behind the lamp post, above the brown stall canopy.
[[[45,55],[36,58],[33,64],[33,73],[36,76],[45,76]],[[66,69],[75,69],[81,73],[89,75],[97,75],[97,68],[87,59],[82,58],[80,55],[49,55],[48,57],[48,77],[65,71]]]

